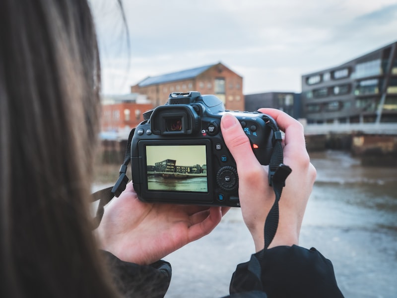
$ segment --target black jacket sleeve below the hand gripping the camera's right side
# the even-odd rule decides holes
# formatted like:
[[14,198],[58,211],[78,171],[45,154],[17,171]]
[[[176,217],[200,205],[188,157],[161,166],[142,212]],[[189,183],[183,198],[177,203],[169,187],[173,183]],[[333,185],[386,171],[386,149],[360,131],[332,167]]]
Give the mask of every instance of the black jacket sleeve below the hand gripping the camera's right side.
[[237,266],[230,283],[230,297],[253,291],[265,293],[268,298],[343,297],[331,261],[315,248],[296,245],[262,250],[253,254],[249,262]]

